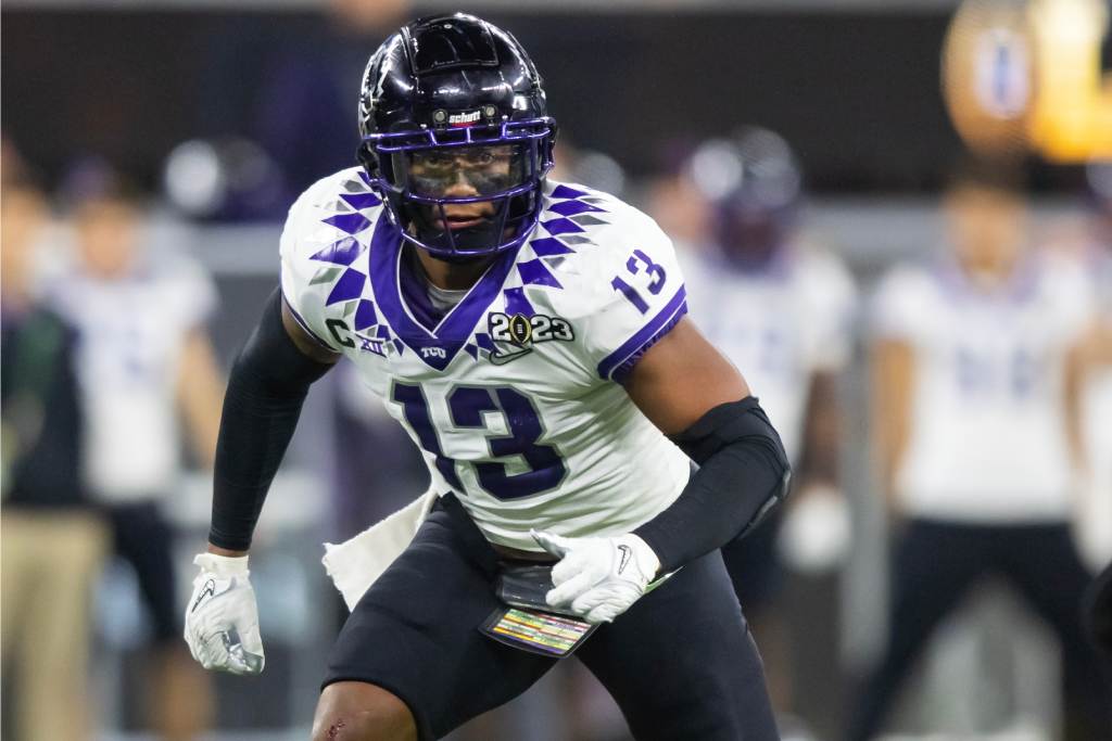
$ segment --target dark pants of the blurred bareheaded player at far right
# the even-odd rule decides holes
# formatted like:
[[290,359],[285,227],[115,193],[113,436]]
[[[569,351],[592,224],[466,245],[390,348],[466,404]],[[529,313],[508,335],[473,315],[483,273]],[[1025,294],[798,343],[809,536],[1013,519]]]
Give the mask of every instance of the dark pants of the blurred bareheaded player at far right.
[[1112,739],[1108,678],[1082,629],[1082,597],[1091,574],[1078,557],[1069,527],[912,520],[894,557],[887,649],[853,708],[848,741],[866,741],[881,730],[934,629],[976,581],[990,574],[1017,589],[1056,634],[1066,719],[1076,738]]

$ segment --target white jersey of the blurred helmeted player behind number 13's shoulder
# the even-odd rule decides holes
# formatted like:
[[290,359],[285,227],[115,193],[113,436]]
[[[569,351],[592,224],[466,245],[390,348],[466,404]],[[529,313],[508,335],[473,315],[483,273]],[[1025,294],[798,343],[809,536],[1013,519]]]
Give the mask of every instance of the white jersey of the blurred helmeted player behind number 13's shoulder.
[[714,256],[682,256],[692,319],[742,371],[792,460],[803,443],[813,373],[837,371],[853,349],[857,292],[833,256],[785,250],[743,272]]

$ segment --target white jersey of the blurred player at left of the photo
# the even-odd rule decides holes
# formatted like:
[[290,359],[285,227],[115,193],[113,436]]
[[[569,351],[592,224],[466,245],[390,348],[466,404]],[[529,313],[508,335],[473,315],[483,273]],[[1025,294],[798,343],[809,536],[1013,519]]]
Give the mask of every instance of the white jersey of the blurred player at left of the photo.
[[110,280],[76,268],[49,293],[78,331],[86,481],[113,502],[159,497],[175,484],[181,349],[216,307],[200,266],[180,254],[148,258]]

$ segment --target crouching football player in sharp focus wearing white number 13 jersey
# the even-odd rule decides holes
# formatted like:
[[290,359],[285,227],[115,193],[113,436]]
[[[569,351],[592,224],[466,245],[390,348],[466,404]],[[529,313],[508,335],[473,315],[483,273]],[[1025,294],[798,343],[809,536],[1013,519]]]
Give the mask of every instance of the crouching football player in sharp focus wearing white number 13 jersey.
[[718,548],[783,495],[787,460],[685,319],[668,239],[546,180],[556,124],[537,71],[473,16],[390,37],[359,123],[360,167],[291,208],[280,291],[232,369],[195,657],[262,669],[251,533],[309,384],[346,357],[423,450],[436,498],[353,600],[315,739],[441,737],[572,650],[639,739],[777,738]]

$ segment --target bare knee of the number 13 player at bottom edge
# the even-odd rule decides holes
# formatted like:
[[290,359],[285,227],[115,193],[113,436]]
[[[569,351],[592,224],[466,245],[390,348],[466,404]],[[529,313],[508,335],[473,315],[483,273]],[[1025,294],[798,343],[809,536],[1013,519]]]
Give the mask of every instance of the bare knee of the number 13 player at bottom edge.
[[312,741],[417,741],[417,724],[397,695],[366,682],[337,682],[320,694]]

